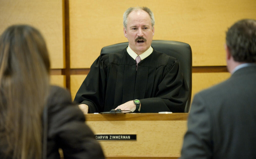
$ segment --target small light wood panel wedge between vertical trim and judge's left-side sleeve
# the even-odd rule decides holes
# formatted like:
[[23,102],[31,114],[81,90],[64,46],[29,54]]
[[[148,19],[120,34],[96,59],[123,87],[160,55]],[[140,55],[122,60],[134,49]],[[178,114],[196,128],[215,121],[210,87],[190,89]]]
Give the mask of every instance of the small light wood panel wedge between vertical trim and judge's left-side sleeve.
[[83,83],[87,75],[71,75],[70,76],[70,92],[72,100],[74,100],[78,89]]

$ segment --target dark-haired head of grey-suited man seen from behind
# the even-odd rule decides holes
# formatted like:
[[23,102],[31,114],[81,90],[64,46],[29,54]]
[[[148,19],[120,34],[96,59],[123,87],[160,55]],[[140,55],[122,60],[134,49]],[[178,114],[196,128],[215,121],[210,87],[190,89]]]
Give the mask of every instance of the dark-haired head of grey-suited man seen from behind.
[[234,23],[226,33],[227,67],[233,63],[256,62],[256,20],[242,19]]

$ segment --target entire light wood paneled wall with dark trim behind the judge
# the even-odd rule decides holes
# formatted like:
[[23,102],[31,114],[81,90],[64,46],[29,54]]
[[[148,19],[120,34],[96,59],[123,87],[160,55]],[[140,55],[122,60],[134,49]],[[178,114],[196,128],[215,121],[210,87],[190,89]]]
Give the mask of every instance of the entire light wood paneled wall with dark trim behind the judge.
[[252,0],[0,0],[0,32],[27,23],[45,37],[51,82],[71,90],[72,98],[102,47],[126,42],[122,16],[131,6],[147,6],[155,16],[154,40],[191,45],[192,96],[227,79],[225,31],[243,18],[256,19]]

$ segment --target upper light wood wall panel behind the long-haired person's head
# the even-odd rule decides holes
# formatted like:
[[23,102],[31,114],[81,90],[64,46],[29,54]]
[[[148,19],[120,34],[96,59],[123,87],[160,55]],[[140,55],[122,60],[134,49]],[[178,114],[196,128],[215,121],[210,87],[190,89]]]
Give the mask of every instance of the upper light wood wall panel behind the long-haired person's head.
[[64,68],[63,0],[0,0],[0,33],[14,24],[37,28],[46,40],[51,68]]

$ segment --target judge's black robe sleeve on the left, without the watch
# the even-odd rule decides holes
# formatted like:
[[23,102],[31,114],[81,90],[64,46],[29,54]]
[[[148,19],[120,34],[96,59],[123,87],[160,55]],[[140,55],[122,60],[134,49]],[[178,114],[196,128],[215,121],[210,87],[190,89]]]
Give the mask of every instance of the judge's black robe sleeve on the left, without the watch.
[[89,74],[74,98],[74,102],[89,106],[88,113],[103,112],[104,110],[108,58],[108,55],[100,55],[94,61]]

